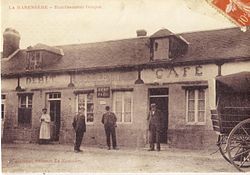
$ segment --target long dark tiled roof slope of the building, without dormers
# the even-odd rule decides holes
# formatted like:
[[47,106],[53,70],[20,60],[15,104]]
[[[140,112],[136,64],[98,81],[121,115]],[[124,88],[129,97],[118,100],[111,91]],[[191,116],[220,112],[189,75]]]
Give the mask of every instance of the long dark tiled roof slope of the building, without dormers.
[[[185,55],[165,61],[165,64],[202,62],[209,60],[248,57],[250,59],[250,31],[239,28],[178,34],[188,43]],[[56,64],[41,71],[91,70],[147,65],[150,62],[149,37],[115,41],[57,46],[64,55]],[[25,73],[26,50],[20,50],[8,61],[1,61],[2,75]],[[162,62],[161,62],[162,63]],[[153,64],[157,64],[156,61]]]

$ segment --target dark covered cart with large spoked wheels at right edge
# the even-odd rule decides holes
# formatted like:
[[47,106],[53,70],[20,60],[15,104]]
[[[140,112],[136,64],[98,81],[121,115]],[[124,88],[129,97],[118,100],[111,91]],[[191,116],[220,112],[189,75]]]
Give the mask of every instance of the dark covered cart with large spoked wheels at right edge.
[[219,151],[239,171],[250,171],[250,72],[217,77],[216,100],[211,119]]

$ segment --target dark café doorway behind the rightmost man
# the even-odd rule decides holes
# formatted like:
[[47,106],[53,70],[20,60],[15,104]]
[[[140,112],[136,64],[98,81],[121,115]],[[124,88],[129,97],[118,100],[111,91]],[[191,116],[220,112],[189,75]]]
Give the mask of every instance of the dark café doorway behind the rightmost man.
[[155,103],[157,109],[163,114],[162,132],[160,142],[167,143],[168,131],[168,88],[152,88],[149,89],[149,105]]

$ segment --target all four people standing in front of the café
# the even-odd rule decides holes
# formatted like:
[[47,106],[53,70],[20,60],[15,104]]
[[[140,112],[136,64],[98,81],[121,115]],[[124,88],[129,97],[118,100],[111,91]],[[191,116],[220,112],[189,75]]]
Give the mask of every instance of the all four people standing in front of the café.
[[[106,112],[102,116],[101,122],[104,125],[104,130],[106,134],[106,142],[108,150],[111,149],[111,140],[112,139],[112,148],[117,148],[117,142],[116,142],[116,122],[117,117],[116,115],[110,111],[110,107],[105,107]],[[42,116],[40,117],[40,134],[39,134],[39,143],[48,143],[50,140],[50,115],[47,114],[47,109],[42,109]],[[77,113],[77,115],[73,119],[72,126],[75,130],[75,144],[74,144],[74,151],[76,153],[82,152],[80,149],[82,139],[84,136],[84,133],[86,132],[86,123],[85,123],[85,109],[84,107],[81,107]],[[149,151],[154,151],[155,143],[156,143],[156,149],[157,151],[160,151],[160,133],[162,130],[162,122],[163,122],[163,116],[162,112],[156,108],[156,104],[153,103],[150,105],[150,112],[147,117],[148,123],[149,123],[149,144],[150,148]]]

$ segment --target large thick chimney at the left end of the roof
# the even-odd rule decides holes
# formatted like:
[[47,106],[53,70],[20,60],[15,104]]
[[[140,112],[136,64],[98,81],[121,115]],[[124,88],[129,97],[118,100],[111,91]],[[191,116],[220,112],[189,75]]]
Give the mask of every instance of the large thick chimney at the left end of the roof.
[[6,28],[3,33],[3,58],[7,58],[19,49],[20,34],[12,28]]

